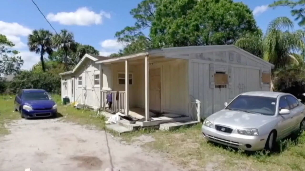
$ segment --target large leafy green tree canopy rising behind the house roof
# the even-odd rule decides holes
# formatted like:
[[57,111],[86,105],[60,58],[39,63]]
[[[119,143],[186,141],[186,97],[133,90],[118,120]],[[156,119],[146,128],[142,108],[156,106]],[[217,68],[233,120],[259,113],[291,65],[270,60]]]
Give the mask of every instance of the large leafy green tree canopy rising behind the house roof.
[[247,5],[232,0],[144,0],[130,14],[135,25],[115,34],[126,47],[112,56],[151,48],[233,44],[261,32]]

